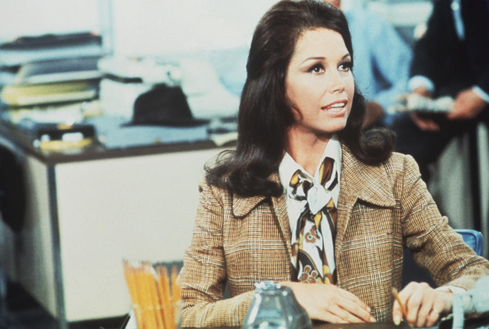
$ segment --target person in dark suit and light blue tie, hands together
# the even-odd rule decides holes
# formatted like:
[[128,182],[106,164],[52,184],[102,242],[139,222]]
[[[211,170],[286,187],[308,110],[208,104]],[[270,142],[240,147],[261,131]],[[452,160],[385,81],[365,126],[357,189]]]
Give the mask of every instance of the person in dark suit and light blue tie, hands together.
[[411,154],[422,177],[454,136],[489,122],[489,2],[437,0],[415,44],[409,88],[425,97],[451,96],[447,114],[399,116],[396,149]]

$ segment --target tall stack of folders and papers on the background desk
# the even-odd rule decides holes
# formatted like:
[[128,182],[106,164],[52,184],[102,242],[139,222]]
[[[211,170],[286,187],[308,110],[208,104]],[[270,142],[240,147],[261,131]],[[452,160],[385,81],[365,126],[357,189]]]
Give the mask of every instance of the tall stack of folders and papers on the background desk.
[[[0,45],[0,108],[4,121],[29,130],[34,146],[49,145],[60,136],[57,148],[80,145],[63,142],[57,127],[73,132],[86,117],[101,113],[98,91],[101,73],[97,62],[102,56],[101,38],[91,33],[21,37]],[[43,133],[46,124],[55,131]],[[66,127],[69,126],[69,129]],[[39,130],[39,131],[37,131]],[[82,145],[94,138],[84,126]],[[46,137],[47,136],[47,137]],[[74,143],[76,142],[76,143]],[[51,143],[53,144],[53,143]]]

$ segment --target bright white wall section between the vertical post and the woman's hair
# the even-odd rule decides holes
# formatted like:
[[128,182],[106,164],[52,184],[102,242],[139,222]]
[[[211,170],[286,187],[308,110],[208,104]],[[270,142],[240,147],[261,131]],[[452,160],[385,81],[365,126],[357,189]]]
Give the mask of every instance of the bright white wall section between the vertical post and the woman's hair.
[[113,1],[114,50],[128,55],[246,46],[259,18],[275,2]]

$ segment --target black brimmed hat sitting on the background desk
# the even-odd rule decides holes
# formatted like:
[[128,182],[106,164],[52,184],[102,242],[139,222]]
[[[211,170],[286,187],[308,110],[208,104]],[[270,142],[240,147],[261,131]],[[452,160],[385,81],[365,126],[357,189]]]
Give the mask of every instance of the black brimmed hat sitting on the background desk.
[[132,125],[196,126],[208,120],[194,119],[180,87],[155,85],[134,102]]

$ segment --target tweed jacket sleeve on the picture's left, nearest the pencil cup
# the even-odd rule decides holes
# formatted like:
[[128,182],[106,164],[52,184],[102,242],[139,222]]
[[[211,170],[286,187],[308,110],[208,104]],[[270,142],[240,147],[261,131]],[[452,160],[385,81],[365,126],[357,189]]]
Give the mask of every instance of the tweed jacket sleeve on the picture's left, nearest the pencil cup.
[[226,261],[223,250],[224,207],[219,189],[199,186],[199,206],[191,246],[180,271],[182,327],[241,325],[253,291],[223,299]]

